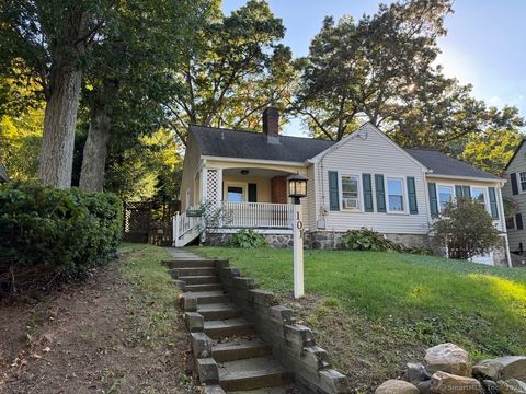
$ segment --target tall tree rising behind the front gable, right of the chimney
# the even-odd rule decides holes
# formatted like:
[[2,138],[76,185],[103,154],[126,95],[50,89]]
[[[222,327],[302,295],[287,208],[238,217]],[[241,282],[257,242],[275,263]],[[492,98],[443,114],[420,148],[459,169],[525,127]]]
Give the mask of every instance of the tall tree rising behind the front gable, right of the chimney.
[[380,4],[358,23],[325,18],[304,59],[294,106],[312,134],[340,140],[363,119],[376,126],[389,120],[401,92],[411,91],[436,59],[448,12],[448,0],[413,0]]

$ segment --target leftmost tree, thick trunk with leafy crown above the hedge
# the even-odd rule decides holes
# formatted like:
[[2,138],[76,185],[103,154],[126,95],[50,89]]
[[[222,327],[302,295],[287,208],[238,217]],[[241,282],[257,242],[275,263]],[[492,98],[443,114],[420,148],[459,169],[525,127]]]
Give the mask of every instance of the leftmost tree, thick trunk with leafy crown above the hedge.
[[0,3],[0,74],[35,80],[44,95],[38,177],[68,188],[82,68],[112,26],[111,0],[5,0]]

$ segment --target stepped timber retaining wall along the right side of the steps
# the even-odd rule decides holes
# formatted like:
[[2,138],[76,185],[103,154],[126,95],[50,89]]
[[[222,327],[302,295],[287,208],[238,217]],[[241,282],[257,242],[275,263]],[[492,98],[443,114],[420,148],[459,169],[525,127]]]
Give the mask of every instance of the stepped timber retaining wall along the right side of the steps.
[[327,351],[316,346],[310,328],[296,324],[293,310],[279,305],[273,293],[255,289],[254,280],[241,277],[236,268],[221,268],[219,277],[273,356],[295,373],[301,393],[350,392],[345,375],[331,369]]

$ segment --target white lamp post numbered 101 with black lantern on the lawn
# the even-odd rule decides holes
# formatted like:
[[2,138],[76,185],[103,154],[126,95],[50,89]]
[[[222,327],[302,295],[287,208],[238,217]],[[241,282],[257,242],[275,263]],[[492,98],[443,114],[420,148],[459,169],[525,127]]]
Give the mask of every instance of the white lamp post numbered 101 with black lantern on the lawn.
[[307,178],[299,174],[288,178],[288,196],[294,200],[294,298],[304,296],[304,221],[301,198],[307,196]]

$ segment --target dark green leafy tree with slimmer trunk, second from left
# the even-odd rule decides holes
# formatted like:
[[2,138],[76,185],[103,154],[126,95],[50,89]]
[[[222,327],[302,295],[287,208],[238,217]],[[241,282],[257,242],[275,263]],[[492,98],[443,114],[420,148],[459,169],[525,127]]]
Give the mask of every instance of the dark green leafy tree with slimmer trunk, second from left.
[[161,103],[179,89],[167,69],[181,66],[181,55],[208,12],[208,1],[128,1],[115,30],[93,48],[83,104],[90,127],[83,149],[79,187],[102,192],[108,142],[137,140],[163,124]]

